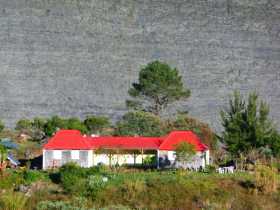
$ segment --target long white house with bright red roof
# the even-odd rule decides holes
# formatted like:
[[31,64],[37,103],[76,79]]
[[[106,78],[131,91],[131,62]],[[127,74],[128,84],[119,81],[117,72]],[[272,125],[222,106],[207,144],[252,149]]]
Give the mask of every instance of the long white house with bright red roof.
[[209,149],[192,131],[172,131],[164,137],[86,136],[77,130],[58,131],[43,147],[43,169],[76,162],[81,167],[98,164],[142,164],[156,157],[158,167],[180,167],[175,147],[180,142],[194,145],[196,155],[188,168],[204,168],[209,164]]

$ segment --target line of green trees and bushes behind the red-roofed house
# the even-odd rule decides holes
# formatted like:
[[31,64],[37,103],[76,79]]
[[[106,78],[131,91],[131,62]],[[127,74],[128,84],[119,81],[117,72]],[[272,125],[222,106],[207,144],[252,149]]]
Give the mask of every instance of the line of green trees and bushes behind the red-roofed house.
[[[162,136],[171,130],[192,130],[211,150],[221,149],[221,146],[217,148],[218,139],[231,158],[280,155],[280,134],[269,117],[269,105],[255,92],[247,99],[237,91],[233,94],[228,107],[221,110],[224,129],[220,134],[188,116],[187,110],[176,113],[171,119],[161,117],[175,101],[186,100],[191,95],[191,91],[184,87],[178,69],[166,63],[154,61],[143,66],[138,81],[132,84],[128,94],[129,111],[115,124],[104,116],[88,116],[84,120],[54,116],[21,119],[16,130],[28,133],[34,140],[50,137],[58,129],[115,136]],[[3,127],[0,124],[0,129]]]

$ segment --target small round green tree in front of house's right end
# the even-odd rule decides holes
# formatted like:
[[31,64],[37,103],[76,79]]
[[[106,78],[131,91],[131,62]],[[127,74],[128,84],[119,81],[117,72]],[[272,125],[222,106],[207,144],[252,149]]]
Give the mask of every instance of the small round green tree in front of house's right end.
[[176,162],[180,162],[185,166],[185,164],[195,155],[195,148],[192,144],[181,142],[176,145],[175,152]]

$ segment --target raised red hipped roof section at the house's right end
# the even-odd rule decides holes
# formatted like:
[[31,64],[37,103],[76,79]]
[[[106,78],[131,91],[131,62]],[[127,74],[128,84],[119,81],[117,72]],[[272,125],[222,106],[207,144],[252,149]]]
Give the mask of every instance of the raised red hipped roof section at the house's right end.
[[172,131],[164,138],[163,143],[160,145],[160,150],[175,150],[175,146],[180,142],[185,141],[195,146],[197,151],[207,150],[208,147],[202,144],[198,136],[192,131]]

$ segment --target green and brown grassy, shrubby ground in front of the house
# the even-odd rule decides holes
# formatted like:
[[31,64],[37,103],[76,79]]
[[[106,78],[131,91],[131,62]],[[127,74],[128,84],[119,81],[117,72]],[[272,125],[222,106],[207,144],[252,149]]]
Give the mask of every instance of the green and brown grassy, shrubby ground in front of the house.
[[[56,179],[50,178],[51,174],[54,174],[51,171],[8,170],[6,173],[9,176],[0,181],[0,187],[1,189],[5,187],[8,190],[6,192],[9,192],[9,189],[17,191],[20,184],[30,186],[31,194],[24,200],[24,209],[20,210],[35,210],[42,202],[44,203],[40,204],[41,207],[48,210],[57,210],[55,207],[57,205],[61,208],[76,206],[77,210],[108,209],[108,207],[117,209],[118,206],[123,209],[273,210],[278,209],[280,201],[279,189],[271,193],[258,191],[255,174],[245,172],[234,174],[208,174],[182,170],[135,172],[122,168],[111,171],[102,167],[90,169],[71,167],[56,171]],[[280,180],[279,174],[277,179]],[[262,180],[260,183],[263,183]],[[67,188],[69,186],[71,188]],[[16,195],[19,198],[17,202],[21,205],[20,199],[24,194],[16,193]],[[2,192],[0,200],[5,198],[9,201],[5,196],[13,194]],[[77,204],[75,198],[84,200],[83,207]]]

